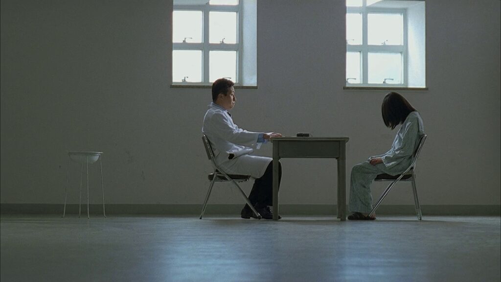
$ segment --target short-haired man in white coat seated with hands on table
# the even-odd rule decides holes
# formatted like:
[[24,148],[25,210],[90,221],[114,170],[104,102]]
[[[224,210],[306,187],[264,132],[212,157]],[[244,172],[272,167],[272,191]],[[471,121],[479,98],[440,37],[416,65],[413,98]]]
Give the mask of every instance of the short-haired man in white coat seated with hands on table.
[[[252,132],[238,128],[228,110],[235,106],[234,83],[220,78],[212,84],[212,103],[203,118],[202,132],[209,139],[216,164],[227,174],[250,175],[255,178],[249,201],[265,219],[273,219],[272,158],[251,155],[280,133]],[[282,178],[280,166],[279,182]],[[242,218],[256,217],[248,205],[240,212]]]

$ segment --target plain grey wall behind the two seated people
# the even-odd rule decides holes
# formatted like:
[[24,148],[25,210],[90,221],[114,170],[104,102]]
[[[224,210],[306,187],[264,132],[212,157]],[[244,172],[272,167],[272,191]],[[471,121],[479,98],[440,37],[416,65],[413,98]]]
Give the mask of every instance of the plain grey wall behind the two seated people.
[[[169,87],[169,1],[1,5],[2,203],[62,203],[66,150],[105,152],[107,203],[203,201],[210,165],[200,128],[210,90]],[[426,3],[429,91],[401,91],[428,133],[417,169],[424,205],[500,204],[499,11],[497,0]],[[344,21],[344,1],[259,1],[259,89],[237,90],[235,122],[347,135],[349,168],[385,152],[396,133],[380,114],[387,91],[342,89]],[[271,146],[262,153],[271,156]],[[334,160],[283,165],[281,203],[336,199]],[[76,202],[79,168],[71,168]],[[374,187],[379,194],[382,185]],[[240,203],[228,189],[211,202]],[[99,190],[91,202],[101,202]],[[385,203],[412,204],[411,193],[397,190]]]

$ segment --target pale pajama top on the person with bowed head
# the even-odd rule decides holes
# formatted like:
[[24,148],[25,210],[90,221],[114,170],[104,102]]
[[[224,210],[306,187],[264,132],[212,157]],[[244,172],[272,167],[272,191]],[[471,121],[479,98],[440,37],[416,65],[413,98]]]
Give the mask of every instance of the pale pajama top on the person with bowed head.
[[404,172],[412,162],[412,154],[416,151],[420,137],[424,134],[423,120],[419,112],[413,111],[407,115],[393,140],[390,151],[383,155],[372,156],[370,159],[382,158],[384,173],[398,175]]

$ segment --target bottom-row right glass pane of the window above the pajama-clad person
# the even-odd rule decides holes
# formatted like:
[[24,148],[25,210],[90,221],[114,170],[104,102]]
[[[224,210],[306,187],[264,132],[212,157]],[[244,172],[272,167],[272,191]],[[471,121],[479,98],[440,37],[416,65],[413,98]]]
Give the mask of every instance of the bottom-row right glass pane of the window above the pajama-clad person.
[[401,53],[369,53],[367,63],[369,83],[402,83]]

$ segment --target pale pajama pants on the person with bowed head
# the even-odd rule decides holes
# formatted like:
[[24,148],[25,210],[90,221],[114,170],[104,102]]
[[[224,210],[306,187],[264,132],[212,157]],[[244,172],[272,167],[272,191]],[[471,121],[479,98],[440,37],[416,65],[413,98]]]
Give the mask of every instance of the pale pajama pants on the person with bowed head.
[[350,203],[351,212],[369,213],[372,210],[371,183],[378,174],[384,173],[384,164],[371,165],[364,162],[351,169]]

